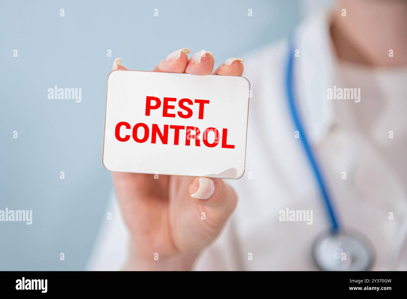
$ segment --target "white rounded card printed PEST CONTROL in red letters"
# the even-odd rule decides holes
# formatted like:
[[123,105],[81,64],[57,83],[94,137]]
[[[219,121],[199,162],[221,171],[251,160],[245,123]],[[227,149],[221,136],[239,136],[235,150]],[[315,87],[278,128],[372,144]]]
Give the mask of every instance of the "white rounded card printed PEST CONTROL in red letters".
[[107,79],[103,166],[237,179],[250,83],[237,76],[115,70]]

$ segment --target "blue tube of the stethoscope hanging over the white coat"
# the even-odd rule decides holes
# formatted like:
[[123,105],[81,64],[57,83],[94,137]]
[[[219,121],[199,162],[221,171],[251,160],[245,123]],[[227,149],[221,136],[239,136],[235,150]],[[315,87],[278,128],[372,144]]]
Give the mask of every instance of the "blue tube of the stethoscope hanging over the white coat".
[[285,89],[287,92],[287,100],[288,100],[288,104],[289,104],[289,108],[290,108],[290,112],[291,112],[291,117],[293,118],[295,128],[297,129],[297,131],[300,135],[300,140],[301,140],[302,146],[303,146],[304,151],[311,164],[315,178],[317,179],[319,190],[321,192],[322,199],[324,200],[324,205],[326,207],[327,214],[329,215],[329,220],[332,225],[332,227],[331,227],[332,234],[337,234],[339,232],[339,223],[337,220],[337,215],[335,214],[335,210],[334,210],[332,201],[330,200],[331,197],[326,188],[324,178],[322,177],[322,173],[317,164],[315,156],[311,150],[311,146],[308,143],[307,137],[304,132],[304,128],[302,126],[300,117],[298,115],[297,106],[295,103],[294,86],[293,86],[294,85],[293,64],[294,64],[294,47],[293,47],[293,41],[290,40],[289,41],[289,55],[288,55],[288,61],[287,61],[287,70],[286,70],[286,74],[285,74],[286,75]]

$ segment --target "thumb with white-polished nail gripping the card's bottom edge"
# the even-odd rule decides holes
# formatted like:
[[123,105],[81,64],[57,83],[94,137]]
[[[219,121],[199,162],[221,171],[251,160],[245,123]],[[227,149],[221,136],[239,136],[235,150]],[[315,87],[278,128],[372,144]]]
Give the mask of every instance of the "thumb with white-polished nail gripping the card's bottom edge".
[[191,200],[207,206],[207,210],[217,215],[219,220],[226,220],[236,207],[236,193],[221,179],[196,177],[189,185],[189,192]]

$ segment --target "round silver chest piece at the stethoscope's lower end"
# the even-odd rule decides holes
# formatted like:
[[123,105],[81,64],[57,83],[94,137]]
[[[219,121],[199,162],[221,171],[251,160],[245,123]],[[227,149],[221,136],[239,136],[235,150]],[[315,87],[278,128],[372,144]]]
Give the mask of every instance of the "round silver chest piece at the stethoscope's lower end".
[[357,232],[324,232],[313,244],[313,258],[323,271],[368,271],[373,266],[374,251]]

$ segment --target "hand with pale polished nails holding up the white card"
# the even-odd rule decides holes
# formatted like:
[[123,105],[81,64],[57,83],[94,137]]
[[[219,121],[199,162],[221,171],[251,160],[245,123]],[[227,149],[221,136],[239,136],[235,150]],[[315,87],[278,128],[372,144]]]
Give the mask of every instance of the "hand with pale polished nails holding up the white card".
[[[212,52],[202,50],[188,60],[189,52],[187,48],[172,52],[153,72],[212,73]],[[116,69],[126,70],[120,58],[114,61]],[[241,76],[243,61],[229,58],[213,74]],[[234,190],[221,179],[168,175],[154,179],[154,175],[113,172],[113,181],[131,236],[125,270],[190,270],[237,202]]]

